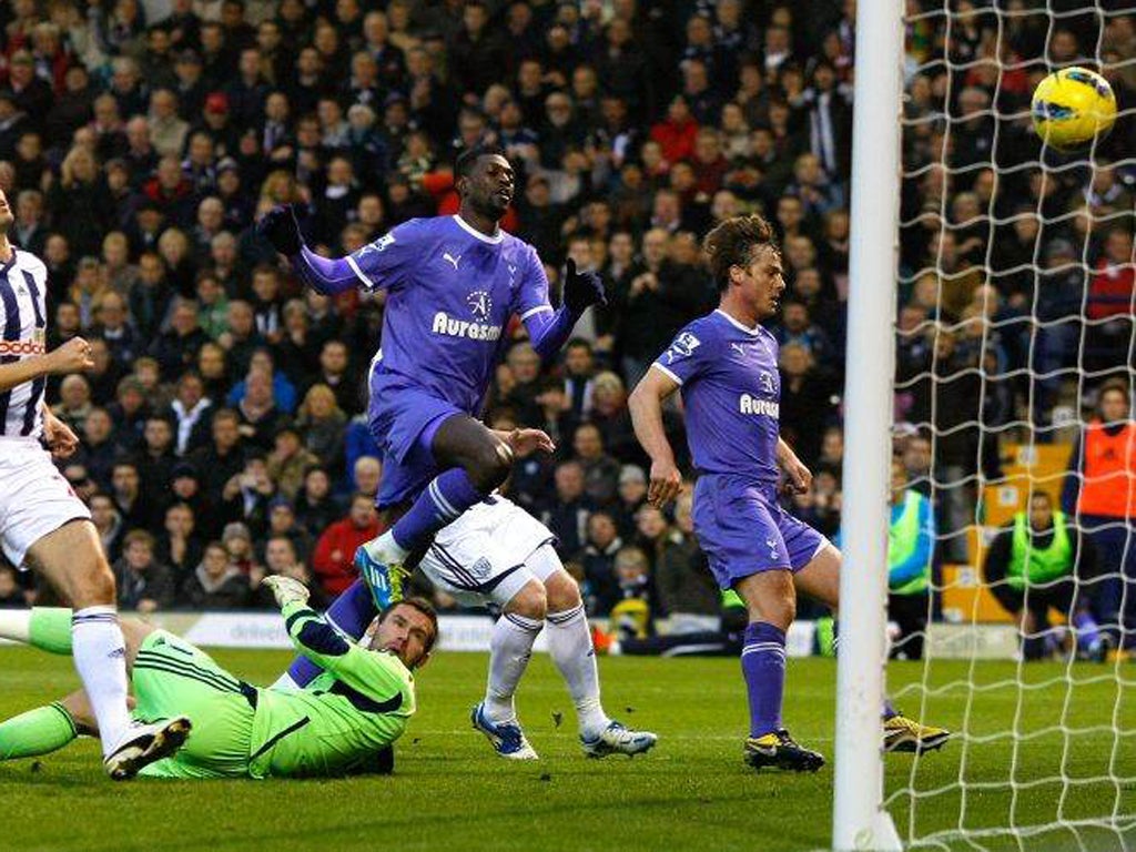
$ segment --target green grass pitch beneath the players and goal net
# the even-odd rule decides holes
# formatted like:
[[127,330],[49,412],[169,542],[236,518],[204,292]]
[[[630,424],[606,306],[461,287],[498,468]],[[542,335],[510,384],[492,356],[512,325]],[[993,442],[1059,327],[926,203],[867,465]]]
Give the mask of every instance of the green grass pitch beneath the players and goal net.
[[[218,652],[219,662],[253,683],[275,678],[287,655],[274,652]],[[37,762],[0,765],[5,850],[810,850],[827,847],[830,830],[830,767],[817,775],[754,775],[741,761],[744,693],[736,660],[604,658],[604,703],[624,721],[655,730],[660,744],[644,758],[580,757],[575,718],[556,670],[545,655],[534,658],[519,699],[538,763],[512,765],[495,758],[468,725],[469,707],[484,684],[485,657],[442,654],[419,676],[419,712],[398,747],[395,775],[325,782],[135,782],[111,784],[101,775],[97,749],[82,741]],[[72,690],[69,660],[25,649],[0,649],[3,688],[0,715],[7,718]],[[928,719],[971,736],[1008,732],[1018,719],[1022,738],[1014,755],[1009,741],[953,742],[916,762],[887,759],[889,810],[901,836],[926,836],[959,825],[960,763],[968,784],[968,828],[1006,825],[1013,809],[1019,826],[1056,818],[1100,817],[1117,807],[1136,813],[1136,784],[1078,783],[1063,803],[1061,785],[1019,783],[1060,776],[1136,775],[1136,737],[1086,732],[1068,738],[1046,733],[1058,725],[1067,700],[1059,679],[1064,667],[1031,666],[1019,691],[1010,663],[979,663],[984,691],[968,711],[961,683],[968,667],[937,662]],[[1078,666],[1077,679],[1111,675],[1111,668]],[[1069,717],[1079,728],[1110,726],[1113,712],[1129,734],[1136,728],[1136,679],[1121,671],[1077,685]],[[922,668],[895,663],[889,670],[900,705],[918,711],[910,685]],[[786,721],[794,736],[833,751],[835,665],[793,660]],[[952,686],[953,684],[960,684]],[[908,690],[904,690],[904,685]],[[1019,698],[1022,702],[1019,704]],[[1118,703],[1119,699],[1119,703]],[[557,725],[556,719],[562,718]],[[1068,746],[1068,750],[1067,750]],[[1016,760],[1013,758],[1016,757]],[[1011,766],[1013,769],[1011,769]],[[918,791],[913,827],[908,785]],[[941,792],[936,792],[941,791]],[[1129,819],[1130,824],[1130,819]],[[984,846],[953,842],[939,849],[1092,850],[1136,846],[1136,830],[1058,829],[1019,845],[1012,838],[983,840]]]

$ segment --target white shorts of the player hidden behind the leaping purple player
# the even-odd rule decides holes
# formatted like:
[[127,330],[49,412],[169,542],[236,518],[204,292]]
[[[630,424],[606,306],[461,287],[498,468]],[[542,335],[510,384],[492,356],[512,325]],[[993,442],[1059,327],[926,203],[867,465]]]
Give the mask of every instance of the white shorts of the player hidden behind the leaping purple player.
[[467,607],[504,607],[531,579],[543,583],[560,560],[556,536],[507,498],[493,494],[443,527],[419,563],[431,582]]

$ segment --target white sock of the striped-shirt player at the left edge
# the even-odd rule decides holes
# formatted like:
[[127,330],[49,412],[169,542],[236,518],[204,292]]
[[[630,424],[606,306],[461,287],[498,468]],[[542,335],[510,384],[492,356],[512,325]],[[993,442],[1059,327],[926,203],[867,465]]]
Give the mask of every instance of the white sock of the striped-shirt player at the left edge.
[[106,757],[122,741],[126,710],[126,642],[111,605],[87,607],[72,616],[72,655],[99,722]]

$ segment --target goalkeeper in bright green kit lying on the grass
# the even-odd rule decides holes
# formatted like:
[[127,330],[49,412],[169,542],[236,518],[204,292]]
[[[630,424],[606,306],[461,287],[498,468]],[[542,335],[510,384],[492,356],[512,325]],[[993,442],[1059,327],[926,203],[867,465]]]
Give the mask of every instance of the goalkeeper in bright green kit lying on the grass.
[[[200,649],[166,630],[123,620],[134,716],[185,716],[192,729],[173,757],[140,774],[166,778],[268,778],[382,771],[391,743],[415,712],[411,671],[429,658],[437,617],[426,601],[387,605],[354,645],[307,605],[308,590],[286,577],[265,579],[296,650],[324,669],[306,688],[257,688]],[[70,611],[36,608],[0,613],[0,636],[70,653]],[[97,734],[85,693],[0,724],[0,760],[64,747]]]

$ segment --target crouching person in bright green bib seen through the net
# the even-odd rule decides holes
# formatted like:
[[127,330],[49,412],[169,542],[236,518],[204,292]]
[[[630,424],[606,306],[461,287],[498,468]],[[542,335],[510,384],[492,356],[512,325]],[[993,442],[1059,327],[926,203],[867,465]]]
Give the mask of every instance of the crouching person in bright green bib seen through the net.
[[1051,607],[1066,613],[1075,629],[1078,655],[1103,659],[1104,641],[1088,611],[1096,550],[1064,512],[1053,510],[1049,494],[1035,493],[1029,511],[1018,512],[1002,527],[984,569],[991,592],[1018,623],[1026,660],[1041,660],[1058,650]]

